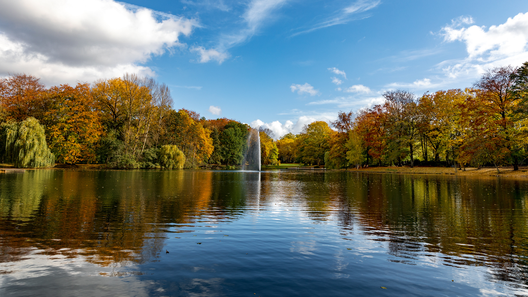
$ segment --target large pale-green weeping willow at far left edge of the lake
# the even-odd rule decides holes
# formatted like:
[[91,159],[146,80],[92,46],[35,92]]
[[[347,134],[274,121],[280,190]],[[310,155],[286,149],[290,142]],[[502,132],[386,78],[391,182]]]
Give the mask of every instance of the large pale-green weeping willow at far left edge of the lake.
[[16,168],[41,168],[55,164],[46,144],[44,126],[35,118],[0,124],[0,158]]

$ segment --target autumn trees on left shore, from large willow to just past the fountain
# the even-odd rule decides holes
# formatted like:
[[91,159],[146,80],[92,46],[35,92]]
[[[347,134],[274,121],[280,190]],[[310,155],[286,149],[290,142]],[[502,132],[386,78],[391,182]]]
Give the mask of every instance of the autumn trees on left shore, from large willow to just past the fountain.
[[[112,168],[240,165],[251,128],[172,108],[166,84],[136,74],[47,88],[39,78],[0,79],[0,161],[17,167],[105,164]],[[262,164],[277,164],[260,131]]]

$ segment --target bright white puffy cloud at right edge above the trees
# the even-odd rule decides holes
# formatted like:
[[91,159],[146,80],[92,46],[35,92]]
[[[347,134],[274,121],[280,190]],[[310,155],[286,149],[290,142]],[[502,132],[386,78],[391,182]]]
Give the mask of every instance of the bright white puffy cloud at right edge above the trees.
[[439,64],[448,78],[475,77],[493,66],[528,61],[528,13],[517,14],[487,30],[485,26],[466,27],[472,23],[471,17],[459,17],[440,31],[446,42],[465,43],[468,54],[464,59]]

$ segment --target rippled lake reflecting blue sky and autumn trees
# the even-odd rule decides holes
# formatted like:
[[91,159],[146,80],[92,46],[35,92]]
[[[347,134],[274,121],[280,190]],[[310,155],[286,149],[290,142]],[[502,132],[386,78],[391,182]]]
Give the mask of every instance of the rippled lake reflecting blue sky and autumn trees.
[[526,295],[527,223],[519,178],[27,170],[0,175],[0,295]]

